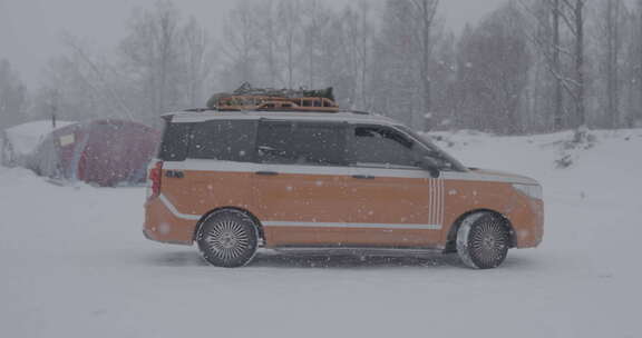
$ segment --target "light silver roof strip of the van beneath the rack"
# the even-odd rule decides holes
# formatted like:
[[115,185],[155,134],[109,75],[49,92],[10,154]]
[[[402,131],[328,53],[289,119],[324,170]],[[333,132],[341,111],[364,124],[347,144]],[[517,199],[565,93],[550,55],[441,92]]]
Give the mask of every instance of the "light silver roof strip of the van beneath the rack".
[[203,122],[216,119],[273,119],[273,120],[301,120],[301,121],[347,121],[347,122],[377,122],[399,126],[400,122],[380,115],[371,115],[361,111],[339,112],[308,112],[308,111],[218,111],[207,109],[192,109],[186,111],[169,112],[165,118],[172,118],[174,122]]

